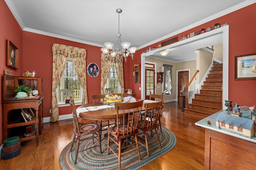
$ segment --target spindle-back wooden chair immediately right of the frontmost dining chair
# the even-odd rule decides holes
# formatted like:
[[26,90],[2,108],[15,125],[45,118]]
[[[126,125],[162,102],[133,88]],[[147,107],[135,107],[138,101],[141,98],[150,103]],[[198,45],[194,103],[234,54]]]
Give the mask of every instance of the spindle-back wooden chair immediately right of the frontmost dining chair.
[[[145,117],[143,120],[140,120],[138,122],[137,127],[138,127],[138,129],[140,129],[139,136],[145,140],[145,143],[142,143],[140,141],[139,141],[139,143],[141,145],[143,145],[144,147],[146,147],[148,156],[149,156],[149,145],[150,144],[158,141],[158,144],[160,145],[160,148],[162,149],[156,128],[158,128],[158,126],[159,126],[159,124],[157,122],[161,115],[161,109],[162,109],[163,104],[164,104],[163,101],[156,102],[156,103],[144,104],[145,111],[146,111],[148,117]],[[151,131],[151,133],[147,133],[148,131]],[[154,135],[156,135],[156,139],[152,140],[150,143],[148,143],[148,138],[153,137]]]

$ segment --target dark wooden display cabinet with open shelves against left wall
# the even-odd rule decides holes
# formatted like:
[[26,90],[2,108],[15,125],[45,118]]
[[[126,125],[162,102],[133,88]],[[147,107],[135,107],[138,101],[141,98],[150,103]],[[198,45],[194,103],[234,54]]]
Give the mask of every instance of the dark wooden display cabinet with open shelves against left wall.
[[[16,86],[27,85],[38,90],[38,96],[32,98],[16,99],[14,89]],[[4,139],[13,136],[19,136],[20,141],[36,139],[38,146],[39,135],[42,133],[43,127],[43,107],[42,107],[42,78],[40,77],[14,77],[3,76],[3,124]],[[34,117],[25,121],[22,117],[22,109],[33,111]],[[31,136],[25,137],[26,127],[34,127]]]

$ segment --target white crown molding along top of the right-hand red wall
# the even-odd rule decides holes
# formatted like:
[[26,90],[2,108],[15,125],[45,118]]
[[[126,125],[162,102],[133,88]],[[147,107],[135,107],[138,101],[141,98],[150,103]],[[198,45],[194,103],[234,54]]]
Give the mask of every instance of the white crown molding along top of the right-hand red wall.
[[[157,42],[159,42],[159,41],[162,41],[162,40],[167,39],[167,38],[169,38],[169,37],[172,37],[172,36],[174,36],[174,35],[178,35],[179,33],[182,33],[182,32],[184,32],[184,31],[187,31],[187,30],[189,30],[189,29],[192,29],[192,28],[194,28],[194,27],[197,27],[198,25],[202,25],[203,23],[206,23],[206,22],[208,22],[208,21],[212,21],[212,20],[214,20],[214,19],[216,19],[216,18],[219,18],[219,17],[221,17],[221,16],[224,16],[224,15],[226,15],[226,14],[229,14],[229,13],[231,13],[231,12],[234,12],[234,11],[236,11],[236,10],[239,10],[239,9],[241,9],[241,8],[244,8],[244,7],[246,7],[246,6],[249,6],[249,5],[251,5],[251,4],[254,4],[255,2],[256,2],[256,0],[247,0],[247,1],[245,1],[245,2],[242,2],[241,4],[238,4],[238,5],[236,5],[236,6],[233,6],[232,8],[228,8],[228,9],[222,11],[222,12],[219,12],[219,13],[217,13],[217,14],[214,14],[213,16],[210,16],[210,17],[208,17],[208,18],[205,18],[205,19],[203,19],[203,20],[200,20],[200,21],[198,21],[198,22],[196,22],[196,23],[193,23],[193,24],[191,24],[191,25],[188,25],[187,27],[184,27],[184,28],[179,29],[179,30],[177,30],[177,31],[175,31],[175,32],[172,32],[172,33],[170,33],[170,34],[168,34],[168,35],[165,35],[165,36],[163,36],[163,37],[160,37],[160,38],[158,38],[158,39],[156,39],[156,40],[154,40],[154,41],[151,41],[151,42],[149,42],[149,43],[147,43],[147,44],[145,44],[145,45],[142,45],[142,46],[138,47],[137,50],[142,49],[142,48],[144,48],[144,47],[148,47],[149,45],[152,45],[152,44],[154,44],[154,43],[157,43]],[[137,50],[136,50],[136,51],[137,51]]]

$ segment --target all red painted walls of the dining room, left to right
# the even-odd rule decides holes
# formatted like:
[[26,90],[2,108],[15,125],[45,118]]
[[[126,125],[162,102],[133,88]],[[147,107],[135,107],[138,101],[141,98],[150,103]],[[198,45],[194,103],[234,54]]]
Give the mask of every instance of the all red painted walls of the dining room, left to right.
[[[202,28],[214,27],[215,23],[229,24],[229,99],[240,105],[255,105],[254,96],[256,94],[256,80],[234,80],[234,57],[256,53],[256,39],[254,29],[256,22],[252,20],[256,16],[256,4],[252,4],[238,11],[222,16],[216,20],[209,21],[198,27],[175,35],[178,40],[182,35],[196,32]],[[3,0],[0,0],[0,71],[4,73],[4,69],[12,70],[14,76],[20,76],[24,69],[30,72],[35,71],[36,76],[43,78],[44,93],[44,117],[50,116],[51,108],[51,89],[52,89],[52,44],[59,43],[64,45],[84,48],[87,51],[86,64],[100,64],[100,47],[67,41],[36,33],[22,31],[15,18],[12,16],[9,8]],[[172,38],[172,37],[170,37]],[[168,39],[170,39],[168,38]],[[6,39],[10,39],[19,49],[19,69],[13,69],[6,66]],[[165,40],[163,40],[165,41]],[[162,42],[162,41],[161,41]],[[157,47],[161,42],[150,45]],[[148,48],[148,47],[146,47]],[[146,49],[144,48],[144,49]],[[136,98],[140,98],[139,87],[141,84],[135,84],[135,77],[132,75],[134,64],[140,64],[140,55],[144,51],[140,49],[136,51],[132,60],[130,57],[127,63],[124,62],[124,88],[134,89]],[[0,78],[0,88],[2,88],[2,78]],[[90,96],[100,93],[100,76],[91,78],[87,75],[87,92],[88,102],[92,102]],[[2,90],[0,90],[0,145],[3,137],[3,111],[2,111]],[[70,107],[60,107],[60,115],[70,114]]]

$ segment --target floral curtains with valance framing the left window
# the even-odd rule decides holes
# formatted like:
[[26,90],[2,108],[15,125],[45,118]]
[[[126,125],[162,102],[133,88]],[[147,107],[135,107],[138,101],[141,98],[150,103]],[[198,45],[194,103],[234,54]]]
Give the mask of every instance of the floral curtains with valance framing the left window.
[[[78,47],[72,47],[72,46],[61,45],[61,44],[53,44],[52,45],[52,113],[50,118],[51,122],[55,122],[59,119],[56,88],[58,87],[58,83],[60,82],[60,78],[64,71],[64,67],[68,57],[72,58],[75,65],[76,72],[78,74],[78,79],[80,81],[80,84],[84,88],[83,103],[87,103],[86,75],[85,75],[86,72],[81,73],[82,69],[86,67],[86,62],[85,62],[86,49],[80,49]],[[86,70],[86,68],[84,70]]]

